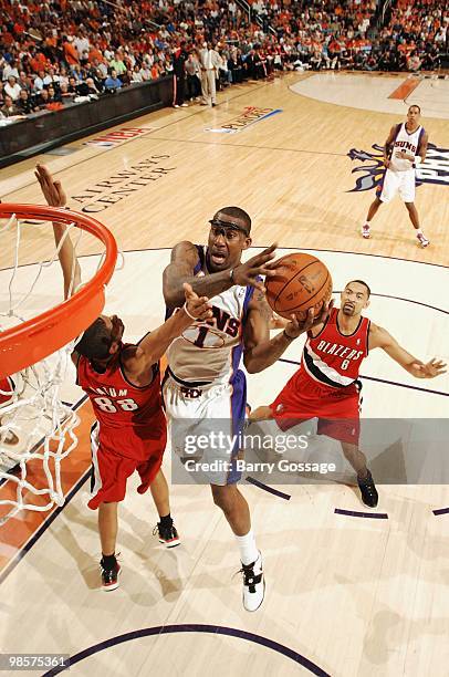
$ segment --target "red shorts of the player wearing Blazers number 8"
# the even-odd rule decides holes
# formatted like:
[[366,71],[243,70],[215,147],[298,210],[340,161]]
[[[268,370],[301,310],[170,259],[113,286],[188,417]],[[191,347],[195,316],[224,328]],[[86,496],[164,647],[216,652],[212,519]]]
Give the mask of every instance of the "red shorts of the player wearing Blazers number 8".
[[[270,405],[281,430],[289,430],[311,418],[317,418],[317,434],[358,446],[361,436],[361,387],[357,382],[346,388],[317,388],[294,374]],[[321,392],[321,395],[317,393]],[[313,396],[311,396],[313,395]]]

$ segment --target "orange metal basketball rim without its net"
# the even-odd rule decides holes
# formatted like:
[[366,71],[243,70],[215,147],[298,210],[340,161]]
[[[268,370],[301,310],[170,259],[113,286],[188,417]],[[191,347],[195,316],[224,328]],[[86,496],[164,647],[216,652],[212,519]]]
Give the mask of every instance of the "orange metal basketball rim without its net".
[[112,232],[96,219],[77,211],[40,205],[0,204],[0,217],[19,220],[32,217],[59,223],[75,223],[98,238],[106,248],[96,274],[66,301],[4,332],[0,332],[0,378],[40,362],[76,338],[101,314],[117,261]]

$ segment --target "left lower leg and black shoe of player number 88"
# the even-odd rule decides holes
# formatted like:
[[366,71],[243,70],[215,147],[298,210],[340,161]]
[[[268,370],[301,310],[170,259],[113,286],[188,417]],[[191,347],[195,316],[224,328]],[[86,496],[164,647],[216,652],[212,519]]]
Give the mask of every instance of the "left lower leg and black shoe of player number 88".
[[105,591],[118,587],[121,565],[115,555],[118,531],[118,503],[103,502],[98,506],[98,532],[102,544],[102,587]]

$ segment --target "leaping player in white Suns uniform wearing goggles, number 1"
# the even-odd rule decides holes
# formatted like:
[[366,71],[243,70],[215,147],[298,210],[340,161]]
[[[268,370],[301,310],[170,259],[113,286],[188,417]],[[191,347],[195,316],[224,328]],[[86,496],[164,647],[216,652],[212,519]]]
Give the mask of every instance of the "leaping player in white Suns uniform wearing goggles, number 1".
[[[269,308],[260,275],[274,274],[275,246],[241,263],[242,251],[251,246],[251,219],[239,207],[224,207],[210,221],[208,247],[179,242],[171,251],[171,262],[164,271],[164,298],[170,314],[184,303],[182,283],[188,282],[199,295],[207,295],[213,316],[207,322],[192,321],[179,340],[170,345],[168,368],[163,386],[170,428],[181,428],[195,419],[196,439],[213,428],[228,427],[238,435],[244,423],[246,378],[239,369],[241,357],[249,373],[272,365],[304,331],[327,316],[311,311],[300,324],[293,316],[283,332],[270,340]],[[175,434],[173,444],[178,445]],[[208,439],[211,439],[210,437]],[[179,451],[179,446],[177,446]],[[240,479],[236,460],[239,445],[216,445],[202,452],[208,467],[213,502],[221,508],[236,535],[243,574],[243,605],[255,611],[262,604],[264,579],[262,558],[251,529],[249,506],[237,487]],[[182,450],[181,450],[182,454]],[[203,468],[202,468],[203,470]]]

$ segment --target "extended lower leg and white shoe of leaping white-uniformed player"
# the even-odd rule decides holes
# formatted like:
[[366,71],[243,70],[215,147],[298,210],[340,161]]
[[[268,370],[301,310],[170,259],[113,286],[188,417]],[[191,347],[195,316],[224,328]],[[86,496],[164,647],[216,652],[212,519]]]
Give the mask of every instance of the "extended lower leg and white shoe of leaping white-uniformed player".
[[263,602],[265,582],[262,555],[251,529],[250,508],[237,485],[211,485],[210,488],[213,502],[223,511],[239,548],[243,575],[243,606],[249,612],[257,611]]

